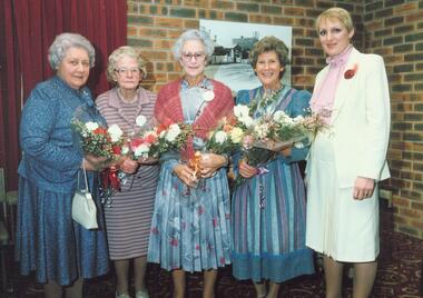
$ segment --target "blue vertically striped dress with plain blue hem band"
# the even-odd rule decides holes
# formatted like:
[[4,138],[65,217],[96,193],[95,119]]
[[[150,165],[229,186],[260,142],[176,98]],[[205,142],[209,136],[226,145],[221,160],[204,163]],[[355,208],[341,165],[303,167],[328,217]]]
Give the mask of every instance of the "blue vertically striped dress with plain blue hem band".
[[[242,90],[237,103],[248,105],[263,92],[262,87]],[[279,98],[262,107],[255,117],[264,110],[284,110],[291,117],[304,115],[309,97],[306,91],[284,87]],[[296,162],[303,160],[307,151],[308,147],[294,147],[289,157],[278,155],[265,165],[268,172],[256,175],[235,189],[232,202],[235,278],[282,282],[313,274],[312,251],[305,247],[304,182]],[[234,158],[234,165],[238,158]]]

